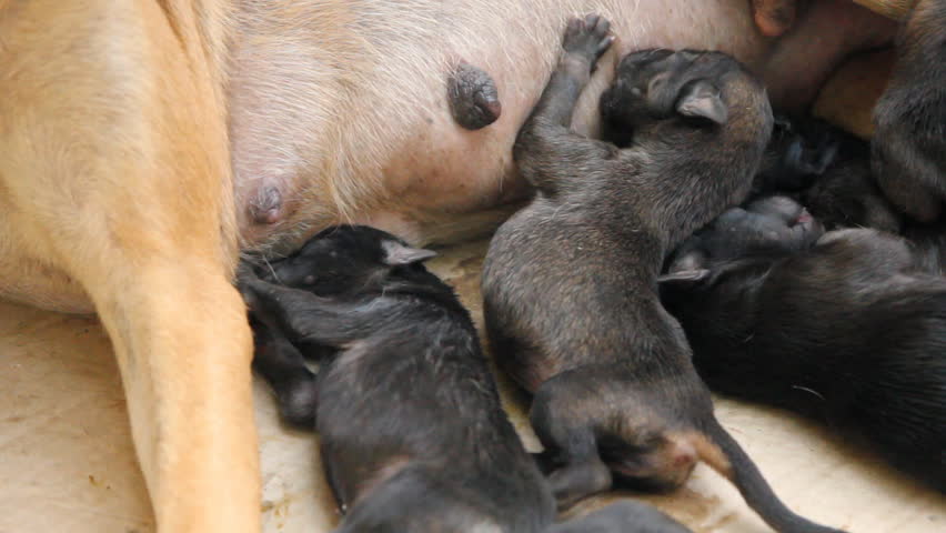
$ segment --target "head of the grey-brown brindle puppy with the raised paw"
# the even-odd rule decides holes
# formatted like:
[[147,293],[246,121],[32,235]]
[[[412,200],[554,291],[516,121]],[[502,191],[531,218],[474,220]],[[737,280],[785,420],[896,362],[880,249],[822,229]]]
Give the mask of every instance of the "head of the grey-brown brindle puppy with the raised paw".
[[625,56],[602,94],[601,113],[612,130],[634,130],[668,119],[696,127],[728,122],[747,105],[771,117],[765,91],[732,57],[663,49]]

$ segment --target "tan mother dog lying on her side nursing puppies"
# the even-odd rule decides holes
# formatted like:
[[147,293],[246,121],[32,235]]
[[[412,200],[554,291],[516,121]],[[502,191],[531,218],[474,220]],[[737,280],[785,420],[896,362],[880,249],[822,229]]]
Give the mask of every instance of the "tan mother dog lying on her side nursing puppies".
[[[291,250],[339,220],[414,242],[489,230],[524,191],[509,152],[566,17],[614,20],[621,54],[731,52],[795,105],[893,32],[818,2],[808,19],[852,23],[799,77],[791,34],[763,37],[745,0],[449,3],[0,0],[0,296],[99,314],[161,531],[260,527],[239,250]],[[446,111],[460,60],[499,88],[482,130]],[[583,132],[608,72],[580,102]]]

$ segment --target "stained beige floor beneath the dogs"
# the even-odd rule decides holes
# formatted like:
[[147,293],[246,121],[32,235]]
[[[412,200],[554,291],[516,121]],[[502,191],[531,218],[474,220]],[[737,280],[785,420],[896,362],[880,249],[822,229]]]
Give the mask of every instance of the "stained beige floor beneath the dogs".
[[[432,262],[480,314],[484,247]],[[509,391],[509,384],[504,383]],[[338,520],[319,470],[315,438],[281,428],[255,386],[266,532],[328,532]],[[506,394],[526,445],[520,398]],[[723,424],[784,501],[852,532],[946,531],[946,497],[916,486],[876,457],[782,412],[718,401]],[[0,533],[144,533],[153,520],[137,470],[110,345],[94,319],[0,304]],[[627,494],[620,495],[622,497]],[[607,495],[582,505],[600,505]],[[668,496],[650,496],[697,532],[765,532],[726,482],[700,466]]]

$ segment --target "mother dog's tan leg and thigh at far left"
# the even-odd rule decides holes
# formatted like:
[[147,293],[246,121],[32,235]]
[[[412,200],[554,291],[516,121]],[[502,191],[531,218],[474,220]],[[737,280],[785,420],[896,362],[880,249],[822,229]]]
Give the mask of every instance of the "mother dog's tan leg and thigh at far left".
[[159,531],[250,533],[252,342],[209,3],[0,3],[0,241],[98,312]]

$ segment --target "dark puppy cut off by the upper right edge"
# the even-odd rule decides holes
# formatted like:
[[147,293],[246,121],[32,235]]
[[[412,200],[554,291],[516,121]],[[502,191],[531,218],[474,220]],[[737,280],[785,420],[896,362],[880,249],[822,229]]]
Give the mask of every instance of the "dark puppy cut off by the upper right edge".
[[946,199],[946,0],[919,0],[896,41],[897,61],[874,109],[872,164],[900,211],[933,222]]

